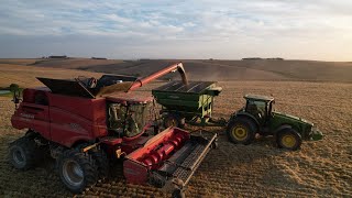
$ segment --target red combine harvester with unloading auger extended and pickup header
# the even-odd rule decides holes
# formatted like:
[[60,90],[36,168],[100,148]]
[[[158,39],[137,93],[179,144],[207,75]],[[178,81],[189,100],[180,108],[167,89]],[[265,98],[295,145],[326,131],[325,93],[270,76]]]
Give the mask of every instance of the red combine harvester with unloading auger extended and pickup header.
[[46,87],[24,89],[23,101],[14,98],[12,125],[28,132],[10,144],[11,164],[28,169],[50,152],[65,186],[81,193],[108,176],[112,160],[123,157],[129,183],[173,186],[173,195],[183,195],[217,134],[206,139],[178,128],[158,133],[158,124],[147,121],[153,98],[131,92],[175,70],[187,84],[182,63],[142,79],[111,75],[98,80],[37,78]]

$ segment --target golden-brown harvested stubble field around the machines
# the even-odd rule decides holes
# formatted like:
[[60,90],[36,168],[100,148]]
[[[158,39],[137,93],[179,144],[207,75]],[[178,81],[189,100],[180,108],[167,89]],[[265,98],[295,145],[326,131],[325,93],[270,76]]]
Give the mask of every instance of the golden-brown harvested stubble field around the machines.
[[[274,147],[271,138],[251,145],[228,142],[220,133],[219,148],[212,150],[191,178],[187,197],[351,197],[352,196],[352,84],[300,81],[228,81],[219,84],[215,117],[229,118],[244,105],[243,94],[273,95],[276,110],[296,114],[318,124],[326,134],[319,142],[304,142],[301,150],[286,152]],[[151,84],[139,90],[150,95]],[[0,196],[74,196],[65,189],[47,158],[28,172],[7,162],[8,143],[23,135],[13,130],[10,117],[14,106],[0,97]],[[191,130],[191,129],[189,129]],[[125,184],[122,166],[117,164],[111,178],[97,184],[78,197],[168,197],[151,186]]]

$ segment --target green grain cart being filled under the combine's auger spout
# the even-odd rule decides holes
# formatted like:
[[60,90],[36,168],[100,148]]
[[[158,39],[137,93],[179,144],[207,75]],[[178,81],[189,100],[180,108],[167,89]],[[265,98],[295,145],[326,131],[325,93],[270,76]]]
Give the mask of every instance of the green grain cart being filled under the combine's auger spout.
[[162,105],[161,114],[166,128],[185,123],[193,125],[226,125],[226,121],[211,119],[215,97],[222,88],[216,81],[170,81],[152,90],[155,100]]

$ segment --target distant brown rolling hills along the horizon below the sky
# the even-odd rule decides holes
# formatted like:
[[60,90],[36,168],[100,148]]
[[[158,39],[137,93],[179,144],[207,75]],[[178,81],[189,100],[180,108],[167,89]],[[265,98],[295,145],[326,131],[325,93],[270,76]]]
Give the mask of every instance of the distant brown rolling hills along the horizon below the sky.
[[[11,59],[10,59],[11,61]],[[9,59],[1,63],[11,64]],[[13,64],[24,61],[12,59]],[[116,61],[91,58],[35,59],[26,65],[36,67],[54,67],[81,69],[110,74],[146,76],[177,59],[141,59]],[[182,61],[189,79],[193,80],[302,80],[302,81],[337,81],[352,82],[351,62],[316,62],[316,61]],[[164,78],[178,78],[169,75]]]

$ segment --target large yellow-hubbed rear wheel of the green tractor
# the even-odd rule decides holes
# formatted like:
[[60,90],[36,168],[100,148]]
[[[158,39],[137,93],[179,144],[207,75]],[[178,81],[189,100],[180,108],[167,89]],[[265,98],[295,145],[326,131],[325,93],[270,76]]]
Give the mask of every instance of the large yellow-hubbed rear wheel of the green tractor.
[[235,118],[231,120],[227,128],[228,138],[235,144],[248,145],[253,142],[255,138],[256,125],[246,118]]

